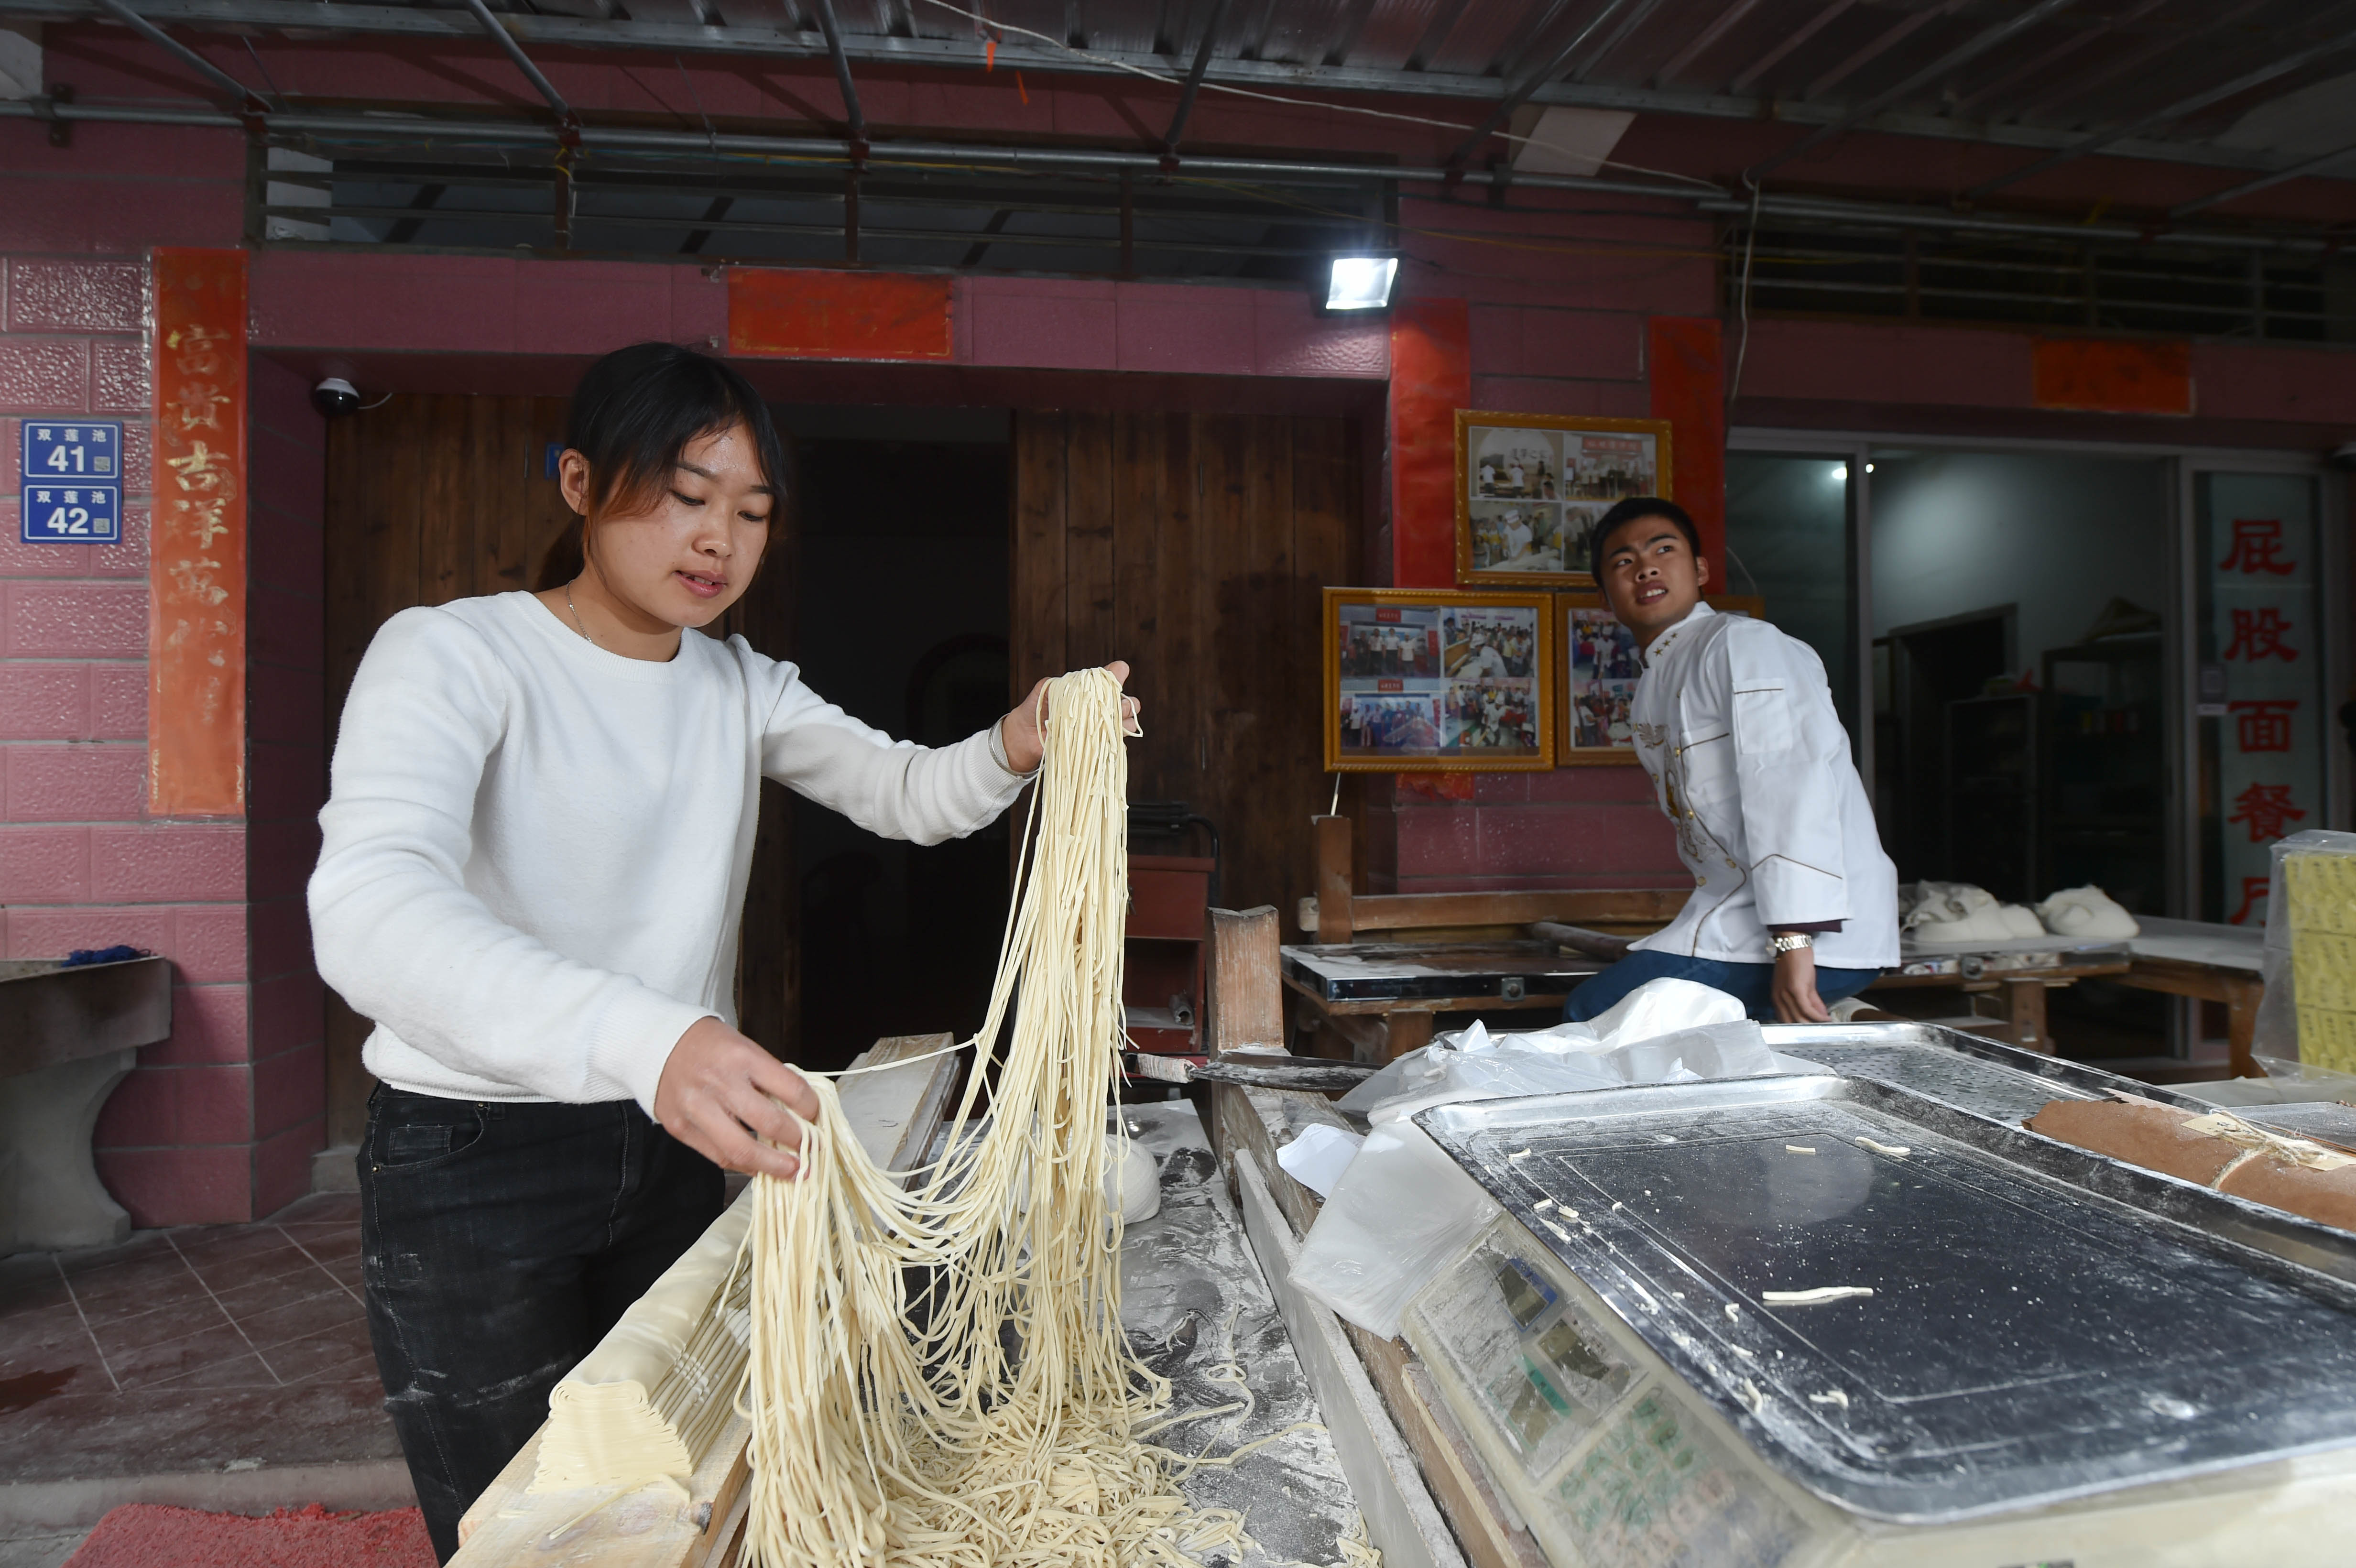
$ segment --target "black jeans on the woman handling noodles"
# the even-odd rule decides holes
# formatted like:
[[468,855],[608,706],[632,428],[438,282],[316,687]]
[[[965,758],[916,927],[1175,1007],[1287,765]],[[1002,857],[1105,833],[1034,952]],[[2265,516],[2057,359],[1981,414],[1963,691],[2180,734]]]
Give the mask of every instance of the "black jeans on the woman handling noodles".
[[434,1554],[549,1389],[704,1234],[719,1165],[636,1104],[377,1088],[360,1144],[368,1335]]

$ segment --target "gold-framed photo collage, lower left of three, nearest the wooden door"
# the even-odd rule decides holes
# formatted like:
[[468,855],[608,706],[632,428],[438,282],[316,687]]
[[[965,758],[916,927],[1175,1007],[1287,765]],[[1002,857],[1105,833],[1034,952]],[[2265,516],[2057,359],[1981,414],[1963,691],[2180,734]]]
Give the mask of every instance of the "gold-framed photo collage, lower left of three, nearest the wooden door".
[[1329,772],[1541,772],[1555,683],[1546,593],[1324,591]]

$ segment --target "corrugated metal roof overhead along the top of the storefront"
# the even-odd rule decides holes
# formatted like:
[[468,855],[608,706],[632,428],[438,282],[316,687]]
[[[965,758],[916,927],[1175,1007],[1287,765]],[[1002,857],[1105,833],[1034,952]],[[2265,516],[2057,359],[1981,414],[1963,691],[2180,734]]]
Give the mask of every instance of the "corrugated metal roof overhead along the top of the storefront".
[[[163,26],[481,35],[464,0],[130,0]],[[490,0],[528,47],[825,52],[822,0]],[[971,14],[968,14],[971,12]],[[101,0],[0,14],[104,19]],[[2281,170],[2356,151],[2356,0],[834,0],[853,66],[1590,104]],[[980,16],[980,19],[978,19]],[[1037,35],[1037,38],[1034,38]],[[1437,111],[1435,111],[1437,113]],[[2038,160],[2024,158],[2021,167]],[[2349,165],[2316,172],[2356,174]]]

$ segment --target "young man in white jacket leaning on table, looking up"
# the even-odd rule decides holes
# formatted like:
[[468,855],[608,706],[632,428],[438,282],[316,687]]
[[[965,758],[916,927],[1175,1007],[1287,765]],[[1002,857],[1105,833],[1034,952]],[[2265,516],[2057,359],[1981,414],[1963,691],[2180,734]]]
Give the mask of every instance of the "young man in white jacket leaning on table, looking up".
[[1826,1022],[1899,961],[1899,878],[1873,831],[1824,662],[1765,622],[1718,614],[1710,563],[1673,501],[1595,525],[1595,579],[1642,650],[1635,753],[1677,826],[1694,897],[1576,991],[1588,1019],[1647,979],[1699,979],[1762,1022]]

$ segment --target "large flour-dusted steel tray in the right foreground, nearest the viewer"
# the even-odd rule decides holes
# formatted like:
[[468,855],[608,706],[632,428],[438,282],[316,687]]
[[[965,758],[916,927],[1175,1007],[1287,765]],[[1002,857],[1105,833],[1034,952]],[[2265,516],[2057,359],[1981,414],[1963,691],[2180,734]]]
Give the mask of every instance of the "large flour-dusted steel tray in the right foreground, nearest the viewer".
[[[1416,1123],[1842,1509],[1939,1523],[2356,1443],[2347,1231],[1868,1078]],[[1824,1285],[1873,1295],[1762,1300]]]

